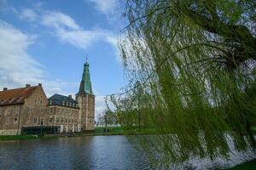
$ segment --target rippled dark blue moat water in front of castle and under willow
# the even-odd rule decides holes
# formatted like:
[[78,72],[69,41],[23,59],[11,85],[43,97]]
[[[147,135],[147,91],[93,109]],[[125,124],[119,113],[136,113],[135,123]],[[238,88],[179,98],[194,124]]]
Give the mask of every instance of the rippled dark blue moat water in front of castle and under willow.
[[[193,158],[180,169],[232,167],[256,157],[255,151],[232,151],[230,160]],[[0,170],[5,169],[149,169],[143,153],[125,136],[0,141]],[[173,167],[177,169],[177,167]]]

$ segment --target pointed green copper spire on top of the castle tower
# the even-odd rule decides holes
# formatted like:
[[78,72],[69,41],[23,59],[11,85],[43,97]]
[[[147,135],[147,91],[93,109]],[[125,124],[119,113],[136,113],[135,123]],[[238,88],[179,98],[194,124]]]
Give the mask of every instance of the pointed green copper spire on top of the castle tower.
[[87,57],[86,62],[84,63],[84,72],[82,76],[82,81],[80,83],[79,94],[94,95],[91,88],[89,63],[87,62]]

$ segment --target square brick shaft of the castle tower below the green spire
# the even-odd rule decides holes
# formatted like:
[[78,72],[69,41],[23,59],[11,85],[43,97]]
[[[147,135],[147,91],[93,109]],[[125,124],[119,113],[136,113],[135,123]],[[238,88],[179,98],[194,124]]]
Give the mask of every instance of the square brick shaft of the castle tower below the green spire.
[[79,118],[81,119],[81,131],[95,129],[95,96],[78,94]]

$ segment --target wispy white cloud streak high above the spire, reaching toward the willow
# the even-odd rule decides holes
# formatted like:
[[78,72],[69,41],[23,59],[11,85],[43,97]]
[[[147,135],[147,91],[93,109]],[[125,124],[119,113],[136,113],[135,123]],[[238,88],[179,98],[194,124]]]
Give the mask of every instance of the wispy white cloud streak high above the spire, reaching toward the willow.
[[93,42],[104,41],[116,47],[114,34],[102,29],[84,30],[67,14],[48,12],[42,16],[42,25],[54,28],[55,36],[78,48],[88,48]]

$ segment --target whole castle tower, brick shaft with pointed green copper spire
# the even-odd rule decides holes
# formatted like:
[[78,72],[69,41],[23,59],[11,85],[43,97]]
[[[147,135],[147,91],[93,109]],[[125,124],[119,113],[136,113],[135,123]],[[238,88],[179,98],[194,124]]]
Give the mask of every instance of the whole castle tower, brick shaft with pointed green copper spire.
[[[87,59],[86,59],[87,60]],[[92,92],[90,82],[89,63],[84,64],[82,81],[80,82],[79,93],[76,94],[79,104],[79,129],[84,131],[95,129],[95,95]]]

